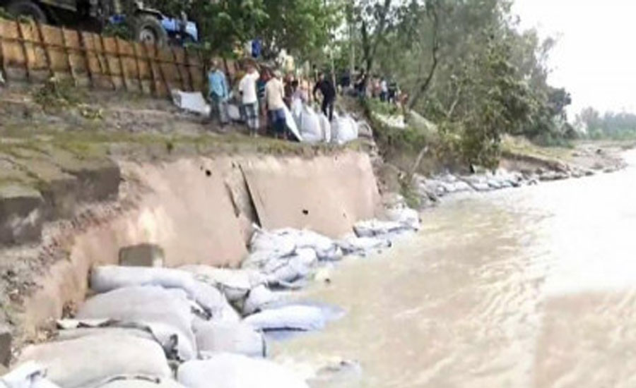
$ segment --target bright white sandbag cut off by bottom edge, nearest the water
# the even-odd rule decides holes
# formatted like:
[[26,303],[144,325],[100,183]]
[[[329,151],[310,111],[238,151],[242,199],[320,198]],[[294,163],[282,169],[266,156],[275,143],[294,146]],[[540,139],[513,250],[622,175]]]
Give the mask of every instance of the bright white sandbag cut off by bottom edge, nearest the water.
[[309,388],[281,365],[230,353],[182,364],[177,380],[189,388]]

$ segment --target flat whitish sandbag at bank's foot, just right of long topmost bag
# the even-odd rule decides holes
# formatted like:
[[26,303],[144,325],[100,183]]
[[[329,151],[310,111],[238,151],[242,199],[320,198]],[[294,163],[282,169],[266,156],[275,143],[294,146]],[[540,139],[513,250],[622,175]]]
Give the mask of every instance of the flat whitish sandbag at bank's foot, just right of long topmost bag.
[[226,269],[209,265],[185,265],[179,269],[194,274],[195,279],[216,287],[230,302],[241,301],[249,290],[266,282],[262,274],[249,269]]

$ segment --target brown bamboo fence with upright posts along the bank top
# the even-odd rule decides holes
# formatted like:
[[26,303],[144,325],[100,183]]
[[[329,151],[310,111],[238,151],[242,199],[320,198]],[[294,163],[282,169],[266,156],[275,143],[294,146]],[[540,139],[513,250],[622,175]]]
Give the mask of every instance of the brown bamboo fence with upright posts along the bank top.
[[76,86],[166,97],[172,89],[204,90],[205,61],[196,49],[0,18],[0,71],[8,82],[56,76]]

